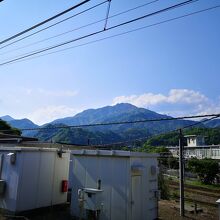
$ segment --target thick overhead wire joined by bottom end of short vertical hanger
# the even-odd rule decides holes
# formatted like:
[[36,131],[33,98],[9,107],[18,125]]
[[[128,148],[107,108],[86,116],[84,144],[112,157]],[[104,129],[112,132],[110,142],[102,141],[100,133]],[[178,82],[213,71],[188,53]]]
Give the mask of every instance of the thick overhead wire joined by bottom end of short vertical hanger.
[[18,57],[18,58],[15,58],[15,59],[12,59],[12,60],[9,60],[9,61],[0,63],[0,66],[3,66],[3,65],[12,63],[12,62],[14,62],[14,61],[22,60],[22,59],[25,59],[25,58],[34,56],[34,55],[36,55],[36,54],[40,54],[40,53],[46,52],[46,51],[48,51],[48,50],[52,50],[52,49],[55,49],[55,48],[58,48],[58,47],[61,47],[61,46],[64,46],[64,45],[67,45],[67,44],[70,44],[70,43],[79,41],[79,40],[82,40],[82,39],[86,39],[86,38],[88,38],[88,37],[91,37],[91,36],[100,34],[100,33],[105,32],[105,31],[107,31],[107,30],[112,30],[112,29],[115,29],[115,28],[118,28],[118,27],[121,27],[121,26],[130,24],[130,23],[136,22],[136,21],[141,20],[141,19],[144,19],[144,18],[157,15],[157,14],[159,14],[159,13],[163,13],[163,12],[166,12],[166,11],[169,11],[169,10],[173,10],[173,9],[175,9],[175,8],[182,7],[182,6],[186,5],[186,4],[193,3],[193,2],[195,2],[195,1],[198,1],[198,0],[187,0],[187,1],[181,2],[181,3],[179,3],[179,4],[175,4],[175,5],[172,5],[172,6],[170,6],[170,7],[161,9],[161,10],[159,10],[159,11],[156,11],[156,12],[153,12],[153,13],[150,13],[150,14],[146,14],[146,15],[144,15],[144,16],[140,16],[140,17],[137,17],[137,18],[135,18],[135,19],[132,19],[132,20],[129,20],[129,21],[126,21],[126,22],[119,23],[119,24],[114,25],[114,26],[111,26],[111,27],[109,27],[109,28],[107,28],[107,29],[105,29],[105,30],[99,30],[99,31],[96,31],[96,32],[93,32],[93,33],[90,33],[90,34],[87,34],[87,35],[84,35],[84,36],[81,36],[81,37],[78,37],[78,38],[75,38],[75,39],[72,39],[72,40],[69,40],[69,41],[66,41],[66,42],[62,42],[62,43],[57,44],[57,45],[53,45],[53,46],[50,46],[50,47],[47,47],[47,48],[43,48],[43,49],[38,50],[38,51],[35,51],[35,52],[31,52],[30,54],[27,54],[27,55],[23,55],[23,56],[21,55],[21,57]]

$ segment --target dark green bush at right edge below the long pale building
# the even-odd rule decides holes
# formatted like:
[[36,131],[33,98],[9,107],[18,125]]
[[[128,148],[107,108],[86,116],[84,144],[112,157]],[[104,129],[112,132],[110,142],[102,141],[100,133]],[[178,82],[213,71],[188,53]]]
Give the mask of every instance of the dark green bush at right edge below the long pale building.
[[212,159],[190,159],[187,163],[188,169],[196,173],[204,184],[214,183],[217,174],[219,173],[219,165],[216,160]]

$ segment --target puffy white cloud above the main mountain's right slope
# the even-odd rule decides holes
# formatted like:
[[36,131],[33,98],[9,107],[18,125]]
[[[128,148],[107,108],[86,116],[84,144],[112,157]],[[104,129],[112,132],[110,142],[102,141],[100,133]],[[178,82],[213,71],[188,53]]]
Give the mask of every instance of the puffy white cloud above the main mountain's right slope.
[[211,100],[198,91],[188,89],[171,89],[167,95],[144,93],[118,96],[113,99],[112,104],[117,103],[131,103],[173,116],[220,112],[220,99]]

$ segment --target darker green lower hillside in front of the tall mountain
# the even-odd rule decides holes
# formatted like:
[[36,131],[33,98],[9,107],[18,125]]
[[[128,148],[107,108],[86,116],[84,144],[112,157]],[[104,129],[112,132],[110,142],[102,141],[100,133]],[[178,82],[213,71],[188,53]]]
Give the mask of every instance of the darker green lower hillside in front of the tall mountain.
[[39,130],[36,137],[42,141],[62,142],[76,145],[102,145],[120,141],[129,141],[142,137],[149,137],[145,129],[126,129],[121,132],[91,131],[82,128],[57,128],[65,127],[64,124],[47,125]]

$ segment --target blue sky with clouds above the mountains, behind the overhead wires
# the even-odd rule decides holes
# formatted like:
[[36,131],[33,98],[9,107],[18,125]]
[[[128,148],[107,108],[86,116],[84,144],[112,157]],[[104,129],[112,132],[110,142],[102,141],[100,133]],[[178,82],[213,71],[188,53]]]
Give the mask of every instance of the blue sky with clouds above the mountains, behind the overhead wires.
[[[156,1],[154,4],[110,19],[108,27],[182,1]],[[4,0],[0,3],[0,40],[78,2],[80,1]],[[99,2],[101,1],[91,0],[62,18]],[[150,0],[112,0],[110,15],[147,2]],[[199,0],[64,48],[218,4],[219,0]],[[12,51],[102,19],[105,17],[106,9],[105,4],[56,28],[0,49],[0,63],[100,30],[103,23]],[[0,115],[27,117],[35,123],[43,124],[56,118],[73,116],[84,109],[120,102],[129,102],[173,116],[219,113],[219,21],[220,8],[49,56],[0,66]]]

